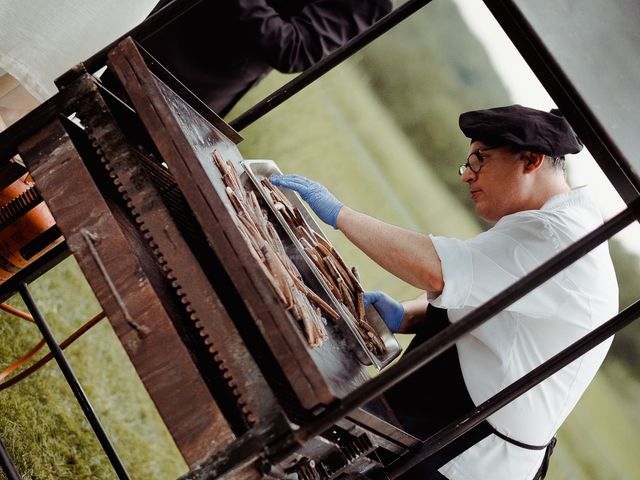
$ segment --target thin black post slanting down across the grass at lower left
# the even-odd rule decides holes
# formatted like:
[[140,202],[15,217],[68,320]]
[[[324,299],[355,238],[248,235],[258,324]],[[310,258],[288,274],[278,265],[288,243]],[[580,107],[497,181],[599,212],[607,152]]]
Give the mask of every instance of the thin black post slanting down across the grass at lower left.
[[111,444],[111,441],[107,436],[107,433],[104,431],[104,428],[102,427],[102,424],[98,419],[98,416],[93,410],[91,403],[89,403],[89,399],[84,393],[84,390],[80,385],[80,382],[78,382],[78,379],[73,373],[73,370],[71,369],[71,365],[69,365],[69,363],[67,362],[67,359],[62,353],[62,349],[58,345],[58,342],[56,342],[56,339],[54,338],[53,333],[49,328],[49,325],[45,321],[35,301],[33,300],[33,297],[31,296],[31,293],[29,292],[27,285],[25,283],[21,283],[18,288],[18,291],[20,292],[20,296],[24,300],[24,303],[27,305],[29,312],[31,312],[33,319],[36,321],[36,325],[38,325],[38,328],[40,329],[40,333],[42,333],[42,337],[47,342],[47,345],[49,346],[49,350],[51,350],[51,353],[53,354],[53,357],[56,359],[56,362],[58,363],[60,370],[62,370],[62,373],[66,378],[67,383],[69,384],[69,387],[71,387],[71,390],[73,391],[73,394],[75,395],[76,400],[80,404],[82,411],[84,412],[85,416],[87,417],[87,420],[91,424],[91,427],[93,428],[93,431],[96,434],[96,437],[98,437],[98,441],[100,442],[100,445],[102,445],[104,452],[107,454],[107,457],[109,458],[109,461],[113,466],[113,469],[118,475],[118,478],[120,480],[129,480],[129,475],[125,470],[124,465],[122,464],[122,461],[118,456],[118,453],[113,448],[113,445]]

